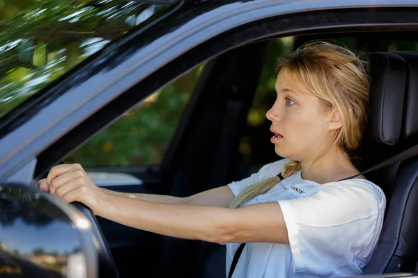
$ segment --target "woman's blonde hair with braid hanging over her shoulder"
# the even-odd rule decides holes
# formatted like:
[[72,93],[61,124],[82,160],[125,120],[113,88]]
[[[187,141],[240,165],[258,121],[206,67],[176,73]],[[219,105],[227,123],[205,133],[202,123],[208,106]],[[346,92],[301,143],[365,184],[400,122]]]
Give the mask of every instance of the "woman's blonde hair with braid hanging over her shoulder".
[[[279,58],[276,74],[284,69],[318,97],[324,108],[339,113],[342,126],[334,133],[332,145],[343,149],[347,156],[357,149],[369,107],[370,77],[366,60],[337,44],[312,41]],[[284,165],[281,175],[290,177],[300,169],[300,163],[291,160]],[[233,199],[230,208],[268,192],[279,181],[275,176],[248,186]]]

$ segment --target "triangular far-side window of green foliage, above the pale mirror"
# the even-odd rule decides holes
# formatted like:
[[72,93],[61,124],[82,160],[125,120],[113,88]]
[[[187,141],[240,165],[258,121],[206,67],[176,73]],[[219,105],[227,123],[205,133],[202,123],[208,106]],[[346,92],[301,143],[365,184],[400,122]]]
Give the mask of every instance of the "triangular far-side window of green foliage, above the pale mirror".
[[160,165],[204,64],[125,113],[65,163],[84,167]]

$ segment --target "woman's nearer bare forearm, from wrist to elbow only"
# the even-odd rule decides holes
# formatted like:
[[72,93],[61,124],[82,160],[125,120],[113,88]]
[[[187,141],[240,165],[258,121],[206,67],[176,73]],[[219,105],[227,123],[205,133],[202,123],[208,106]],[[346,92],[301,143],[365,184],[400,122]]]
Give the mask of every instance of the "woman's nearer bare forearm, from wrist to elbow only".
[[[163,204],[105,195],[93,213],[129,227],[157,234],[222,243],[229,208]],[[221,217],[221,216],[224,217]]]

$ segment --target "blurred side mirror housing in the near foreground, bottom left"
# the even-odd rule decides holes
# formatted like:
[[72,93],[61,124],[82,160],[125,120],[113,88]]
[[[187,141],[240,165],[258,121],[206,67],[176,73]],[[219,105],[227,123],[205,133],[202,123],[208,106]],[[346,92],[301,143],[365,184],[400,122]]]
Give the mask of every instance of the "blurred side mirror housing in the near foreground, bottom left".
[[28,186],[0,184],[0,277],[98,277],[91,222]]

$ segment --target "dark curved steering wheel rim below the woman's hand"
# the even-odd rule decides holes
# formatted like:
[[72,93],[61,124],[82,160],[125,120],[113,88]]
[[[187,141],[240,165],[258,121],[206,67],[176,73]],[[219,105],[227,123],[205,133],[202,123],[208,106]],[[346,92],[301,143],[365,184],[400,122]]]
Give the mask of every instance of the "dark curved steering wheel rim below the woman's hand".
[[98,241],[98,263],[99,263],[99,276],[102,277],[109,277],[109,278],[118,278],[118,270],[116,268],[116,263],[111,255],[109,245],[107,244],[106,238],[104,238],[104,234],[102,229],[100,229],[99,223],[93,211],[91,211],[88,206],[80,202],[72,202],[79,211],[82,211],[84,215],[90,220],[91,222],[91,229],[93,231],[95,240]]

